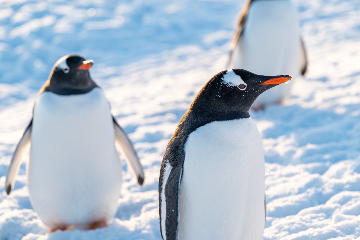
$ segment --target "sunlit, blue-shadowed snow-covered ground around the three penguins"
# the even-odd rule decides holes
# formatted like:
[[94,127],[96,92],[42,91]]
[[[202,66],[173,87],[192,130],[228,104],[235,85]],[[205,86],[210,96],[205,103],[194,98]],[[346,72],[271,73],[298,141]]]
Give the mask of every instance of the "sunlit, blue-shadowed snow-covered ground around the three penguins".
[[[2,0],[0,240],[161,239],[163,153],[194,96],[225,70],[242,3]],[[309,71],[294,79],[284,106],[251,113],[265,148],[264,239],[360,239],[360,1],[296,4]],[[10,196],[4,183],[37,91],[70,53],[94,59],[91,74],[134,142],[146,179],[138,186],[124,166],[109,227],[50,234],[28,197],[25,158]]]

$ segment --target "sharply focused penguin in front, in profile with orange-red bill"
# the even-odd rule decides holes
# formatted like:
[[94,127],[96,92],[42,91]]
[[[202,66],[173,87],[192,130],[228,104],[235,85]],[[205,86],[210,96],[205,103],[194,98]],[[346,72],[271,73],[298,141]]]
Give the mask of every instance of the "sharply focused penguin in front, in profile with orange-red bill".
[[291,78],[232,69],[203,86],[162,160],[163,240],[262,239],[264,150],[249,109],[262,92]]

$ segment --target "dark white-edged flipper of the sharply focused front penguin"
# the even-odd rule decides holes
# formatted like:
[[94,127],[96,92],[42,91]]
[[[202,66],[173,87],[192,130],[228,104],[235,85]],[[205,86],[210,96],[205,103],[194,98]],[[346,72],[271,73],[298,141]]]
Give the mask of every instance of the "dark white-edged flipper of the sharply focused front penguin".
[[159,181],[160,231],[163,240],[179,239],[179,196],[183,166],[162,164]]

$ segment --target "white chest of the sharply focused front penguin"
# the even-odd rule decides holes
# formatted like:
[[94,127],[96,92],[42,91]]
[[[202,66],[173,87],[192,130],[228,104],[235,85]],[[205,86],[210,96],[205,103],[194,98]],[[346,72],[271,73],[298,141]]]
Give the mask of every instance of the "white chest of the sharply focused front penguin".
[[262,239],[265,162],[251,118],[211,122],[185,144],[179,239]]

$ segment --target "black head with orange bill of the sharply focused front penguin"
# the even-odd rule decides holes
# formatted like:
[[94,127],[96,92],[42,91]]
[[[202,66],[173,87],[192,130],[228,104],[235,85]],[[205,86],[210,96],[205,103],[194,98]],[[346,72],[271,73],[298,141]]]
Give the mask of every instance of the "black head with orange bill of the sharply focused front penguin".
[[223,71],[213,76],[193,101],[192,108],[208,115],[248,116],[255,99],[264,91],[291,80],[289,75],[262,76],[243,69]]

